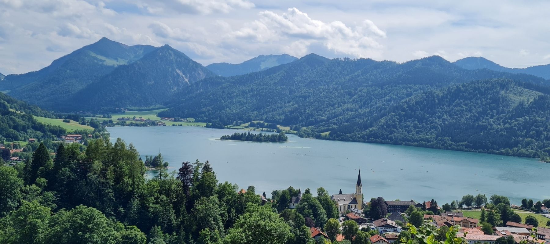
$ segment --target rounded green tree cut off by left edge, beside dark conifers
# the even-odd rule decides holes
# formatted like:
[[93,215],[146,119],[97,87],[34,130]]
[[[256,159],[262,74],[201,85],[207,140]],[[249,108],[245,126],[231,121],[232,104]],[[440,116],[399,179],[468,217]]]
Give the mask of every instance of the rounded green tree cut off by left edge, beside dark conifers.
[[0,165],[0,186],[0,217],[3,217],[19,205],[23,180],[13,167]]

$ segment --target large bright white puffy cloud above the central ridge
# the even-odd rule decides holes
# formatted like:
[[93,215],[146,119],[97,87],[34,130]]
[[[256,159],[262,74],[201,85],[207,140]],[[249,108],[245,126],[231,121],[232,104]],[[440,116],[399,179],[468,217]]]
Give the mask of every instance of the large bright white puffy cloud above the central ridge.
[[299,53],[307,52],[307,46],[318,42],[329,51],[355,57],[371,57],[381,53],[383,46],[377,39],[386,38],[386,32],[371,20],[364,20],[356,26],[347,26],[338,20],[327,23],[312,19],[297,8],[289,8],[283,14],[262,11],[259,20],[245,24],[231,35],[257,42],[291,40],[292,44],[283,49],[300,50]]

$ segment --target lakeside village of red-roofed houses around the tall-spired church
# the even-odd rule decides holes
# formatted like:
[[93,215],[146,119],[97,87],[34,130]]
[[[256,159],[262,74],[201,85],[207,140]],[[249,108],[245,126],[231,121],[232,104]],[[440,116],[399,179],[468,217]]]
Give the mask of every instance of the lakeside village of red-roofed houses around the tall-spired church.
[[[298,207],[301,198],[302,192],[299,190],[298,196],[292,197],[288,208],[295,209]],[[360,172],[357,177],[354,193],[342,194],[342,190],[340,190],[339,194],[332,195],[331,199],[337,205],[340,213],[340,225],[346,220],[353,220],[357,223],[360,230],[376,231],[376,234],[370,237],[370,241],[373,244],[400,243],[400,233],[409,229],[407,225],[409,222],[407,220],[410,219],[410,216],[406,214],[408,209],[434,209],[431,206],[431,201],[424,201],[423,203],[412,199],[410,201],[384,201],[383,207],[387,209],[386,217],[380,219],[368,218],[362,208],[368,206],[370,202],[360,204],[363,203]],[[262,200],[267,201],[265,192],[262,195]],[[510,206],[520,208],[520,206]],[[516,244],[550,244],[550,228],[536,228],[536,226],[529,224],[507,221],[503,223],[503,226],[494,226],[490,230],[485,230],[482,228],[480,219],[465,217],[464,213],[460,212],[460,210],[445,211],[439,207],[435,209],[437,209],[436,213],[423,215],[423,223],[428,223],[436,229],[459,226],[460,229],[456,236],[463,237],[469,244],[495,244],[500,237],[510,237]],[[546,206],[541,208],[541,213],[550,221],[549,209]],[[310,232],[313,239],[317,240],[320,237],[329,239],[329,236],[322,231],[320,226],[311,226]],[[344,235],[338,234],[336,241],[342,240],[344,240]]]

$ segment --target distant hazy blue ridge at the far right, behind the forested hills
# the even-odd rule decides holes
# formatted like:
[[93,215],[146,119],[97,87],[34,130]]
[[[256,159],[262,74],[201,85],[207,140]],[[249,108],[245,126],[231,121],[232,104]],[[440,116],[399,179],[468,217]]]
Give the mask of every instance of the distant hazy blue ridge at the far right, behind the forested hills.
[[456,60],[454,64],[464,69],[490,69],[495,71],[502,71],[514,74],[529,74],[542,77],[544,79],[550,79],[550,64],[537,65],[527,68],[507,68],[500,66],[483,57],[467,57],[460,60]]

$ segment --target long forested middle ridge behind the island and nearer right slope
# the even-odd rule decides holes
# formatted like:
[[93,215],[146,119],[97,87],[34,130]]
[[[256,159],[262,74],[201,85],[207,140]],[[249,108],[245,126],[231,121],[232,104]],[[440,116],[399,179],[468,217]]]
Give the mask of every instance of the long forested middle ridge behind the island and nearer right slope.
[[403,64],[372,59],[326,59],[309,54],[259,73],[211,77],[175,96],[163,116],[200,120],[262,119],[284,125],[332,127],[351,118],[379,114],[388,106],[449,84],[514,77],[536,84],[529,75],[465,70],[441,57]]

